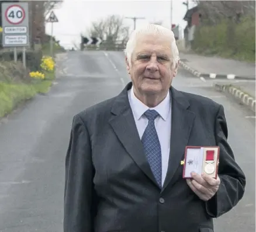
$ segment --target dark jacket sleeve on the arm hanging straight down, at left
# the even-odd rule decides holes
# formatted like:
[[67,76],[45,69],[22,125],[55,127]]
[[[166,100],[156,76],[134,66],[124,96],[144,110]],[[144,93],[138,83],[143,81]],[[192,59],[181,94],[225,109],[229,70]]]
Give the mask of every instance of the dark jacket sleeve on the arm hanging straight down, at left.
[[64,232],[92,232],[94,168],[87,127],[79,115],[72,121],[65,158]]

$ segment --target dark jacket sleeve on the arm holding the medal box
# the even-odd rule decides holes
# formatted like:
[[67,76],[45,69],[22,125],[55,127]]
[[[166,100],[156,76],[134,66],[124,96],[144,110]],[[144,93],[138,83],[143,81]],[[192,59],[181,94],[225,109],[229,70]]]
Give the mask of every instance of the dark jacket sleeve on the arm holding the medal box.
[[206,211],[211,217],[219,217],[229,212],[241,200],[245,191],[245,175],[234,159],[227,136],[224,108],[220,105],[215,121],[216,145],[220,147],[220,186],[215,196],[206,202]]

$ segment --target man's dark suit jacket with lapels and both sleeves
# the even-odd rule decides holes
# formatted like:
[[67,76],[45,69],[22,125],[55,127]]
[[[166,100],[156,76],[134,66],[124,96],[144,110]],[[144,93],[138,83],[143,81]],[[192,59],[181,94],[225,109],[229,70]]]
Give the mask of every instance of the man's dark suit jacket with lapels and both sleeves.
[[[64,232],[213,232],[213,217],[243,197],[245,176],[227,143],[223,106],[171,87],[172,129],[164,187],[143,153],[127,90],[74,116],[65,164]],[[216,195],[182,178],[185,146],[220,146]]]

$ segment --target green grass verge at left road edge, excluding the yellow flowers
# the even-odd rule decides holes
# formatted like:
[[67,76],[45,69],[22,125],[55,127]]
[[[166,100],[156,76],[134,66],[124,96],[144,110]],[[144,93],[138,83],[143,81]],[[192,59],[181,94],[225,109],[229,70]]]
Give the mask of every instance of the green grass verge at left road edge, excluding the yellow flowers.
[[37,93],[49,92],[53,79],[37,80],[30,84],[0,82],[0,118]]

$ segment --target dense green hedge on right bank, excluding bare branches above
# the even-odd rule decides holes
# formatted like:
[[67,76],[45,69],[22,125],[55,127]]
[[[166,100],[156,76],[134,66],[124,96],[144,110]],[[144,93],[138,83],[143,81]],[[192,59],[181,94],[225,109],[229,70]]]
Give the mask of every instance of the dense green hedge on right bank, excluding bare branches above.
[[255,61],[255,19],[244,17],[240,23],[223,19],[216,26],[199,26],[192,49],[205,55]]

